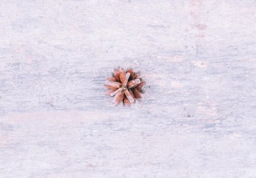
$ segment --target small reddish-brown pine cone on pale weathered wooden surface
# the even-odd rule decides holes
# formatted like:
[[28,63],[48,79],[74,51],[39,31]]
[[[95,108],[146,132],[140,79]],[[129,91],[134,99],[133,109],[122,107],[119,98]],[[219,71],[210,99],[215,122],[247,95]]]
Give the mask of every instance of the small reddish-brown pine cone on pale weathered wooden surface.
[[146,82],[140,77],[140,72],[134,72],[131,68],[126,71],[117,68],[112,76],[107,78],[105,85],[109,89],[107,95],[113,97],[113,103],[118,106],[123,102],[124,106],[130,106],[145,93],[143,87]]

